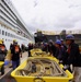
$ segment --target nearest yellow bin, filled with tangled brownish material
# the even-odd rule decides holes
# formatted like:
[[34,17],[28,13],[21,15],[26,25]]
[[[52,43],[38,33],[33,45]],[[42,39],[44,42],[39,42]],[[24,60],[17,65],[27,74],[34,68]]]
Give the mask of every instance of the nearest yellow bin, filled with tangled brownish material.
[[53,57],[30,57],[11,75],[16,82],[69,82],[73,75]]

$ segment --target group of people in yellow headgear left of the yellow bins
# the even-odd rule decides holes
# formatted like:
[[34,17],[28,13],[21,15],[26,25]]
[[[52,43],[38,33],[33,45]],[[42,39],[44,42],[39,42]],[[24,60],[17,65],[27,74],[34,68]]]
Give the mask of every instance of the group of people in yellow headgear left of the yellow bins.
[[[25,46],[22,44],[21,47],[16,39],[13,39],[13,43],[10,44],[10,49],[8,50],[3,39],[0,39],[0,61],[3,61],[4,65],[8,65],[9,61],[5,60],[8,52],[10,52],[10,61],[12,62],[13,70],[20,66],[20,58],[22,52],[25,51]],[[4,65],[1,67],[1,74],[4,74]]]

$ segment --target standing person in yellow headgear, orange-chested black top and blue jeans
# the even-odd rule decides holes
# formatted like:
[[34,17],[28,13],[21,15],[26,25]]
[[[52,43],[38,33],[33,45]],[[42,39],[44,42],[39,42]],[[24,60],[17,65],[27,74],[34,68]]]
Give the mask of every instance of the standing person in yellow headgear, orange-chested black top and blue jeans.
[[22,57],[21,48],[16,40],[13,40],[13,46],[11,48],[11,59],[13,70],[20,66],[20,57]]

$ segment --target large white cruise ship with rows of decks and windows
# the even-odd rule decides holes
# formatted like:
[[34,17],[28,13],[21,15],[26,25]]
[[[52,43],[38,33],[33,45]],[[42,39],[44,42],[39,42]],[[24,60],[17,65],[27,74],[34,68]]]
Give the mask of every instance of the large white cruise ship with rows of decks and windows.
[[0,39],[4,40],[7,49],[13,39],[19,45],[34,42],[33,35],[10,0],[0,0]]

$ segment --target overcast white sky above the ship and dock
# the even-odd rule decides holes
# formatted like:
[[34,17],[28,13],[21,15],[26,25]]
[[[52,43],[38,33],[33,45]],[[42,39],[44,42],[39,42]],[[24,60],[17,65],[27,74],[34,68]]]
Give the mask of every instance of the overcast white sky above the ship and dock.
[[81,30],[81,0],[11,0],[31,32]]

